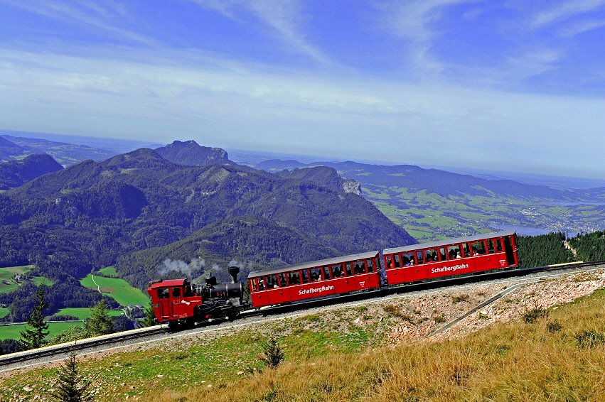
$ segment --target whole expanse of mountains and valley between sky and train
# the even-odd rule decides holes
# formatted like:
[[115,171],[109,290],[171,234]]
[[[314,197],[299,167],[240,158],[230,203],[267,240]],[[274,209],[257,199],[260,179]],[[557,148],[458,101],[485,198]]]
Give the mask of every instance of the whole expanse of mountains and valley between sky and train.
[[[45,150],[59,152],[68,166],[35,155]],[[245,276],[252,269],[415,243],[404,224],[414,237],[436,239],[498,223],[550,224],[559,216],[570,227],[573,214],[598,222],[599,205],[543,203],[605,203],[605,188],[562,190],[414,165],[237,165],[223,149],[195,141],[112,153],[0,136],[0,156],[12,158],[0,163],[0,266],[35,264],[32,275],[76,288],[75,279],[115,266],[145,288],[150,279],[210,271],[227,279],[225,267],[232,264]],[[70,158],[72,164],[64,163]],[[61,292],[65,300],[55,308],[92,297],[84,290]],[[29,313],[18,299],[10,309],[14,320]]]

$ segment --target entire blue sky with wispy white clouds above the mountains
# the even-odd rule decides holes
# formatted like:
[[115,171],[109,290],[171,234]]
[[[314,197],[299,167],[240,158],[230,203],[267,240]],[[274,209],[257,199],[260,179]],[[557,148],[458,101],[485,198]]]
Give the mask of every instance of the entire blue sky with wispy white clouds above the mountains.
[[0,129],[602,178],[605,0],[0,0]]

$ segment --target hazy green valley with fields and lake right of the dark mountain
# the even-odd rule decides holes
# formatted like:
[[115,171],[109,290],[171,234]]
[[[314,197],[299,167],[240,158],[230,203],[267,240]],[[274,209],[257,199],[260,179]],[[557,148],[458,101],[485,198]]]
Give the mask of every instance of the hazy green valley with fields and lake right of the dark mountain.
[[325,165],[361,183],[362,195],[419,241],[492,232],[500,225],[559,232],[605,228],[605,188],[557,189],[413,165],[264,161],[273,172]]

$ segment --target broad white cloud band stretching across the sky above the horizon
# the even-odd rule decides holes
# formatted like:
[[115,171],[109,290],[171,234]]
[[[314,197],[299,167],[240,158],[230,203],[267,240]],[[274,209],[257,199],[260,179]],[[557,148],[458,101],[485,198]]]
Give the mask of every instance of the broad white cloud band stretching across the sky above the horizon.
[[[518,163],[550,166],[543,155],[569,160],[576,149],[586,163],[605,168],[601,99],[279,73],[187,52],[169,60],[134,49],[90,54],[0,48],[0,126],[499,168],[510,165],[509,153]],[[503,144],[497,149],[496,140]]]

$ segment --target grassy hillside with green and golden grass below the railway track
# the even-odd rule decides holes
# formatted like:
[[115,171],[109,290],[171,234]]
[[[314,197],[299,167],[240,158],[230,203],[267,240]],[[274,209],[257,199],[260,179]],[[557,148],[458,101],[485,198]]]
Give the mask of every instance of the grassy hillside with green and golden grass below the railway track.
[[[466,303],[444,295],[449,305]],[[89,359],[80,368],[97,401],[604,401],[603,303],[601,289],[524,315],[531,319],[397,346],[385,328],[413,325],[411,318],[394,304],[374,312],[360,305],[179,337]],[[257,359],[269,334],[286,352],[275,370]],[[48,397],[56,375],[56,369],[38,369],[1,386],[16,399]]]

